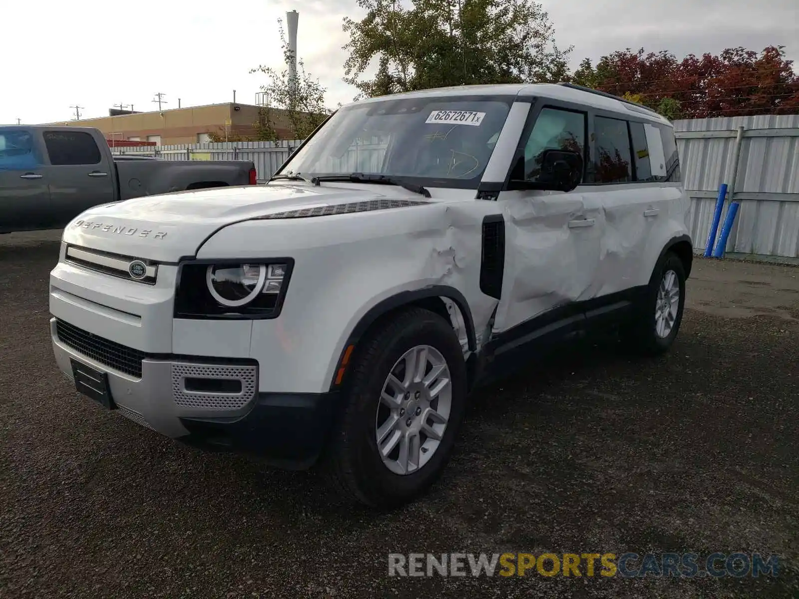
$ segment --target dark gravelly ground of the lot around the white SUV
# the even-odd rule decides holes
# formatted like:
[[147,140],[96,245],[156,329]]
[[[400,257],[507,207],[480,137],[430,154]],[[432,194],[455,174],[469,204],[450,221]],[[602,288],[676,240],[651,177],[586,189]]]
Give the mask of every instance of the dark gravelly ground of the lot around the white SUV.
[[[109,415],[51,355],[58,233],[0,236],[0,597],[797,597],[799,268],[698,260],[673,351],[476,397],[394,514]],[[388,577],[388,553],[779,553],[779,577]]]

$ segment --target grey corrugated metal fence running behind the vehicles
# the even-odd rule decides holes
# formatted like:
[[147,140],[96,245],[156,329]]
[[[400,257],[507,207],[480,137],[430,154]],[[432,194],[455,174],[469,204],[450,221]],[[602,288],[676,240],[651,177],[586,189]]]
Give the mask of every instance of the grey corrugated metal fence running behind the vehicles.
[[[727,252],[799,257],[799,115],[674,121],[682,177],[691,197],[690,230],[697,250],[705,248],[715,199],[729,183],[738,127],[744,127],[737,182],[731,197],[741,203]],[[115,153],[165,160],[252,161],[266,180],[301,140],[119,148]],[[379,144],[364,140],[351,151],[346,170],[363,170]],[[360,151],[362,150],[362,152]],[[358,165],[359,168],[356,168]],[[337,170],[337,169],[336,169]]]

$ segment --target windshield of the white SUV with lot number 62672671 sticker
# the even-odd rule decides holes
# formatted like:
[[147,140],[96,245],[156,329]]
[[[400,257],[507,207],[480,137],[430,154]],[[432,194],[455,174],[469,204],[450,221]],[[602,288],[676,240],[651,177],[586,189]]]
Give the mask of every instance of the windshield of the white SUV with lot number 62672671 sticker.
[[383,175],[476,188],[512,98],[419,97],[340,109],[281,175]]

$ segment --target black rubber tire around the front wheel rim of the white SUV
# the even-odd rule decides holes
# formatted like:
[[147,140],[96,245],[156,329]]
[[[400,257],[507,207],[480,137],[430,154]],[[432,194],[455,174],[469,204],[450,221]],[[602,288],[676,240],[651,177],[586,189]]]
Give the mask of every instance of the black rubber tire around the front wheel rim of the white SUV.
[[[411,474],[395,474],[380,458],[376,416],[380,394],[392,367],[411,348],[428,345],[443,356],[451,376],[451,411],[438,448]],[[410,308],[381,323],[353,354],[344,401],[322,467],[348,501],[392,509],[419,498],[439,478],[452,453],[466,408],[463,351],[447,321],[422,308]]]

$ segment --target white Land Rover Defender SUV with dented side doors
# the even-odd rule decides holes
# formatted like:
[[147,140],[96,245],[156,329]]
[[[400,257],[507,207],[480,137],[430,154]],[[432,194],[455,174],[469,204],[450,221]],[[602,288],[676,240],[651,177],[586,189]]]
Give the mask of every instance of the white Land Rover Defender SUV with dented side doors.
[[489,375],[596,327],[670,347],[688,212],[672,126],[640,105],[573,85],[360,101],[266,185],[70,223],[55,359],[142,426],[396,506]]

